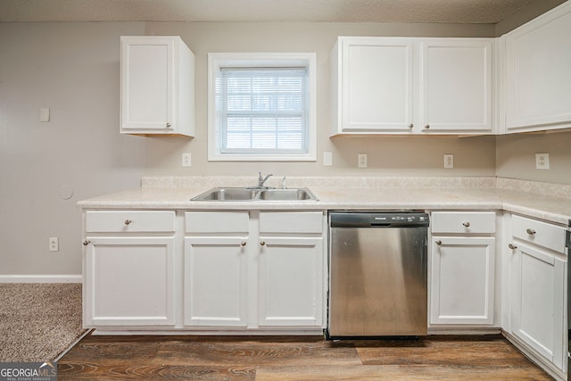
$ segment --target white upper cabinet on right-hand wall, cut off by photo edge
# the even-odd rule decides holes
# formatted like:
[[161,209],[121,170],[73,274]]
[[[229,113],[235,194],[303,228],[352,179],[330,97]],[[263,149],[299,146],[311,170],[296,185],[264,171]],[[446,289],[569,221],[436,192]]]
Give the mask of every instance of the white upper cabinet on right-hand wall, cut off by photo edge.
[[506,130],[571,127],[571,3],[509,32]]

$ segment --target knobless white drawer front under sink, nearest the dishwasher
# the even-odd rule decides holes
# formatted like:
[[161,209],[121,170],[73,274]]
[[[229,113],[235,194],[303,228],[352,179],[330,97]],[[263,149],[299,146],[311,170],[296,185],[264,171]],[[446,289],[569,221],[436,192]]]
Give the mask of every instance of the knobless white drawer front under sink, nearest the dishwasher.
[[263,211],[260,213],[263,233],[323,233],[320,211]]

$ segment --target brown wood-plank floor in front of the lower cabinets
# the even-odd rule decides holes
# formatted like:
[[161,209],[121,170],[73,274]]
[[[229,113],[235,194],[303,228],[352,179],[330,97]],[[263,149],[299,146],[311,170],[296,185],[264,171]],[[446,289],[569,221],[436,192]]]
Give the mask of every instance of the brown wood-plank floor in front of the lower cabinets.
[[550,380],[500,335],[327,341],[316,336],[93,336],[58,380]]

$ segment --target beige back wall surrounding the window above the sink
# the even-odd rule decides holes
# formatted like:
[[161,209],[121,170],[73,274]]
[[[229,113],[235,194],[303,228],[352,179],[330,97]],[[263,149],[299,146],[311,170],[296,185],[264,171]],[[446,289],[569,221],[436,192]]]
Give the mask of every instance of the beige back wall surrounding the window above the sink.
[[[283,176],[494,176],[493,137],[335,137],[331,130],[329,62],[338,36],[493,37],[491,25],[398,23],[148,22],[148,35],[181,36],[195,55],[196,137],[147,140],[146,175]],[[318,60],[318,162],[208,162],[207,54],[209,52],[315,52]],[[181,166],[192,153],[193,167]],[[332,167],[322,163],[333,153]],[[357,154],[368,153],[368,169],[357,169]],[[456,168],[443,169],[443,154],[454,153]]]

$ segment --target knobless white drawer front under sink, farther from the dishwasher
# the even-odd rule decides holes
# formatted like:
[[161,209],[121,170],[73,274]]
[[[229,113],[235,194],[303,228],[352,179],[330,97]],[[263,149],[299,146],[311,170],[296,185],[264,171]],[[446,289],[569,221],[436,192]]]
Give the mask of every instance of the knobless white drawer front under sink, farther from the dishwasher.
[[187,211],[186,233],[248,233],[247,211]]

